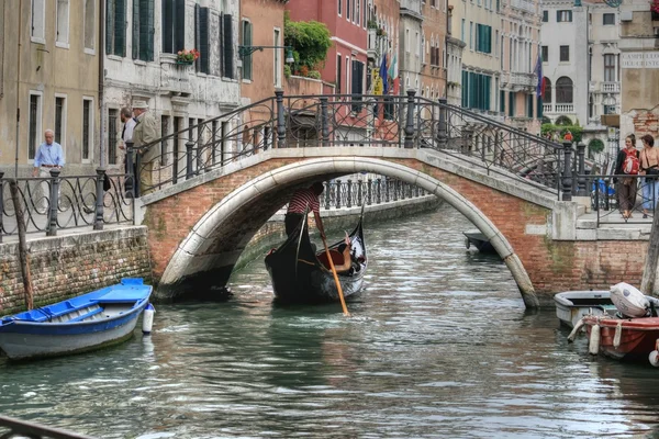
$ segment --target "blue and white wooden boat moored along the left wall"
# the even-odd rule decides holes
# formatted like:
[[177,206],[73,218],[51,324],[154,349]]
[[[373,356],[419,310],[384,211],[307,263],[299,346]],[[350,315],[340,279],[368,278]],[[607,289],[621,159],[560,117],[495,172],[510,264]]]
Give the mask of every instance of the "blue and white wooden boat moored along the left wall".
[[142,279],[0,318],[0,349],[10,360],[55,357],[118,344],[133,335],[153,286]]

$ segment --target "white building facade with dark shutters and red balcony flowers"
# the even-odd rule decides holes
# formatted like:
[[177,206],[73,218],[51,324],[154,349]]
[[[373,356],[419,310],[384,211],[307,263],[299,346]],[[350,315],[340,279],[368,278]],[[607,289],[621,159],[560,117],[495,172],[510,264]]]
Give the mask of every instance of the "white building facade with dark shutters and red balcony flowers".
[[[161,144],[161,170],[179,172],[185,162],[185,143],[201,135],[197,125],[241,104],[238,2],[105,1],[103,134],[108,140],[108,164],[121,166],[123,160],[123,153],[116,147],[121,135],[119,111],[139,99],[159,119],[163,136],[188,130]],[[178,59],[179,50],[192,48],[199,52],[197,60]],[[236,124],[233,120],[217,120],[212,131],[228,133]]]

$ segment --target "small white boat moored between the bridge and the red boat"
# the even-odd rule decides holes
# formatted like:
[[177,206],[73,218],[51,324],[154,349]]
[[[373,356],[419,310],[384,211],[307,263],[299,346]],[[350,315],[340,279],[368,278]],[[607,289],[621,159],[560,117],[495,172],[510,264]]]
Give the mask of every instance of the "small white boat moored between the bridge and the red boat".
[[616,307],[611,301],[611,293],[596,291],[565,291],[554,295],[556,316],[562,325],[574,327],[585,315],[614,315]]

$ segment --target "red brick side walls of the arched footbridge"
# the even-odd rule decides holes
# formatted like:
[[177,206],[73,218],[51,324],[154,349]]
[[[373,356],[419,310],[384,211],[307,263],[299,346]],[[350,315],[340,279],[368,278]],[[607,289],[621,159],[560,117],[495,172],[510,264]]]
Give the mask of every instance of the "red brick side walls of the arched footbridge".
[[[543,306],[550,305],[559,291],[607,289],[621,281],[640,283],[647,241],[557,241],[546,235],[528,235],[527,225],[547,225],[548,209],[416,159],[384,160],[424,172],[473,203],[509,240]],[[164,273],[181,240],[213,205],[256,177],[298,161],[300,158],[270,159],[149,204],[144,224],[149,229],[155,277]]]

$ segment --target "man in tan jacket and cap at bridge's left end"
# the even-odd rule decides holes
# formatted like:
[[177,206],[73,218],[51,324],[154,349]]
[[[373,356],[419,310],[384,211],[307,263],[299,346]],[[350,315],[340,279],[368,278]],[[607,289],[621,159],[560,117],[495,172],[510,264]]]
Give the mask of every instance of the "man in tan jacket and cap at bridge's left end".
[[153,113],[148,111],[146,101],[133,102],[133,113],[137,123],[133,130],[133,146],[142,158],[139,175],[139,195],[146,195],[153,191],[154,162],[160,157],[160,143],[154,143],[160,138],[160,127]]

